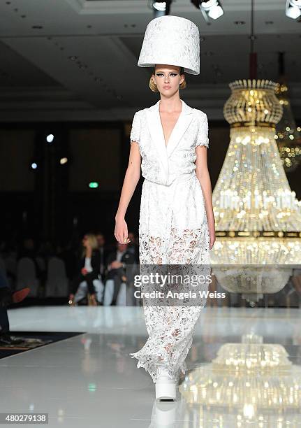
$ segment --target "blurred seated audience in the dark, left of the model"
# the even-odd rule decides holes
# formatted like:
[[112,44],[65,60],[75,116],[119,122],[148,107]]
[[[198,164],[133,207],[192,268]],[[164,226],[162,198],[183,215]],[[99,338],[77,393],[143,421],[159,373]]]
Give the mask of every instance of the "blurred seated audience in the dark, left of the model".
[[129,304],[126,299],[134,300],[133,273],[139,262],[138,240],[132,231],[129,238],[131,243],[121,245],[96,229],[57,245],[32,236],[2,240],[1,278],[12,291],[30,288],[24,305]]

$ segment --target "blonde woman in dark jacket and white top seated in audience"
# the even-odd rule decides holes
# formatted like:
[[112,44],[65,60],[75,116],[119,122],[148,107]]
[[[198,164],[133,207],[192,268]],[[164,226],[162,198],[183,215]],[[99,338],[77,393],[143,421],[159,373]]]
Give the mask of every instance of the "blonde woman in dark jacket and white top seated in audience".
[[79,272],[75,276],[71,285],[69,301],[74,304],[75,292],[82,281],[87,283],[88,304],[97,306],[96,290],[93,284],[94,279],[98,279],[100,255],[97,249],[97,241],[94,234],[85,234],[82,238],[82,257],[79,263]]

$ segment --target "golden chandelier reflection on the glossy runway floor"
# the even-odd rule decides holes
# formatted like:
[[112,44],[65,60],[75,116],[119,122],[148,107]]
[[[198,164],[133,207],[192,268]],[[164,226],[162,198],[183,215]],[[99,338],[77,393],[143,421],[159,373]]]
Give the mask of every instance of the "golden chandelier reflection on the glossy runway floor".
[[[243,336],[242,343],[222,345],[211,364],[185,376],[179,392],[191,406],[201,406],[204,418],[210,411],[221,419],[219,427],[301,422],[300,367],[288,360],[282,345],[263,343],[253,333]],[[235,420],[229,425],[231,415]]]

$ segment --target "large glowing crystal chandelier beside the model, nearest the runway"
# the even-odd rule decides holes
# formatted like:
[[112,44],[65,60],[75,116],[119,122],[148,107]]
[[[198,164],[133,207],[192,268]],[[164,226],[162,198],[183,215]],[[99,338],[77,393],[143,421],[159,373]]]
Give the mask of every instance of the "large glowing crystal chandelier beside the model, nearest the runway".
[[230,83],[223,109],[230,144],[212,194],[212,264],[301,264],[301,202],[274,138],[283,113],[278,86],[270,80]]

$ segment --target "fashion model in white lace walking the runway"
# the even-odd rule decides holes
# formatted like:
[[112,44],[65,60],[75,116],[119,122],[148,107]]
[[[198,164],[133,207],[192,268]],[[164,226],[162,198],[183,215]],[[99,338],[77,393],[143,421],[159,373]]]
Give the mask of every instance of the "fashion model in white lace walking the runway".
[[[160,99],[133,117],[129,166],[115,216],[115,237],[128,242],[124,217],[141,167],[140,266],[210,264],[215,232],[207,115],[179,97],[184,72],[199,73],[199,40],[198,27],[177,16],[157,17],[145,31],[138,66],[154,67],[149,87]],[[131,355],[152,376],[157,400],[176,398],[203,306],[144,305],[149,338]]]

